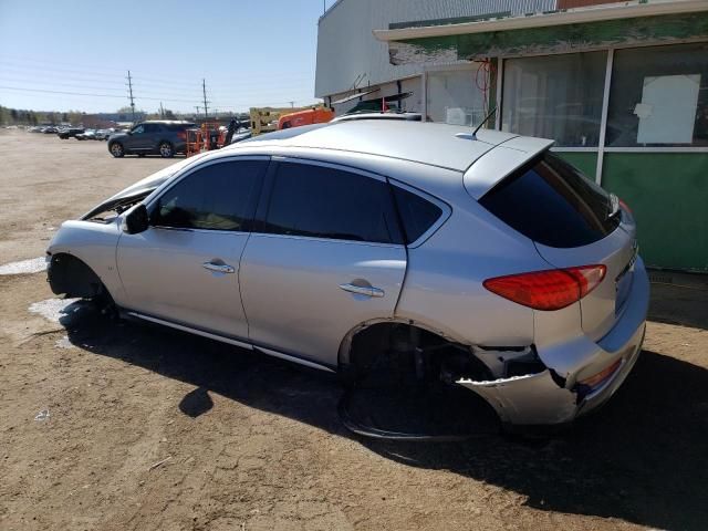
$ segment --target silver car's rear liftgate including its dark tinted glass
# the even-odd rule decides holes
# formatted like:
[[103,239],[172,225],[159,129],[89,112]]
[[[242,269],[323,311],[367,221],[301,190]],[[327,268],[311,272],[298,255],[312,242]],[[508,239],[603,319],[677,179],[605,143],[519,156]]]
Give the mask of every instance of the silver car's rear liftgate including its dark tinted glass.
[[583,331],[594,340],[605,335],[622,313],[637,251],[634,220],[616,198],[546,152],[480,204],[531,238],[551,266],[607,268],[602,283],[580,301]]

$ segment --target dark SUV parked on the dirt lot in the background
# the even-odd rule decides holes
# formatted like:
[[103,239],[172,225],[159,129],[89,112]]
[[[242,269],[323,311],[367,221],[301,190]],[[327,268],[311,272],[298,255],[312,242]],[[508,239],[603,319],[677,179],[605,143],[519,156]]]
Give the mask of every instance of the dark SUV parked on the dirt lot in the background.
[[114,157],[123,155],[160,155],[174,157],[186,148],[186,129],[195,127],[190,122],[155,119],[142,122],[127,133],[116,133],[108,138],[108,152]]

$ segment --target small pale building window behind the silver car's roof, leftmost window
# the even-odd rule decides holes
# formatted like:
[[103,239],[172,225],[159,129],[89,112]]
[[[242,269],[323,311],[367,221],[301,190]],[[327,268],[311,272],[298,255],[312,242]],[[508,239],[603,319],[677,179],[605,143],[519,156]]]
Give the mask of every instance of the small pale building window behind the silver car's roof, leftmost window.
[[487,114],[485,93],[477,85],[475,70],[428,72],[426,100],[429,122],[477,125]]

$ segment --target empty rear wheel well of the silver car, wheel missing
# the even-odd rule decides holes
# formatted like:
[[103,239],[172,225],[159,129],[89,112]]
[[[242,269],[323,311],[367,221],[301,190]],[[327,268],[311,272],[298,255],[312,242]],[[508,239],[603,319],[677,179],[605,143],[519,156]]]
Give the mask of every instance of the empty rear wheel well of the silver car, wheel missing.
[[382,375],[414,381],[491,379],[470,345],[456,343],[416,324],[378,322],[347,335],[340,348],[340,371],[347,384]]

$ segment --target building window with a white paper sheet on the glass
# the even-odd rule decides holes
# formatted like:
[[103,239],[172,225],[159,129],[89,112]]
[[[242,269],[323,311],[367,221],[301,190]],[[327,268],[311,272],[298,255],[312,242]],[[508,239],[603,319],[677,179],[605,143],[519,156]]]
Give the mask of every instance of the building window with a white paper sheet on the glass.
[[618,50],[610,147],[708,145],[708,43]]

